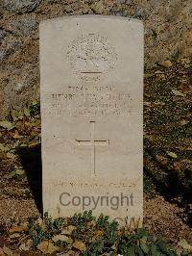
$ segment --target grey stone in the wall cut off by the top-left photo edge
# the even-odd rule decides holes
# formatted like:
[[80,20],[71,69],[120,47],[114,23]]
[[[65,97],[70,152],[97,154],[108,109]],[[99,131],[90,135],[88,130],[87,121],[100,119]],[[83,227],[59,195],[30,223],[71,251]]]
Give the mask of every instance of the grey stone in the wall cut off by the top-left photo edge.
[[41,0],[4,0],[3,8],[12,13],[30,13],[40,2]]

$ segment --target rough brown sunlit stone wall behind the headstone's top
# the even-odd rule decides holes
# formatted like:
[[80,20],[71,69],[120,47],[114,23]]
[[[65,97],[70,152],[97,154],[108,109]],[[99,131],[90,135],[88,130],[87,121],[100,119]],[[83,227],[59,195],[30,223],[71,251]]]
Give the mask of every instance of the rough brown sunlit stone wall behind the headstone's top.
[[[0,3],[2,40],[0,59],[1,68],[7,70],[8,79],[12,70],[23,68],[28,63],[38,64],[38,30],[36,24],[42,19],[60,15],[77,15],[102,13],[136,17],[144,21],[145,26],[145,65],[153,66],[156,63],[180,57],[192,56],[192,5],[190,1],[176,0],[4,0]],[[19,15],[15,15],[19,13]],[[31,37],[33,35],[33,37]],[[30,42],[29,42],[30,40]],[[34,54],[28,54],[32,52]],[[24,54],[22,49],[25,49]],[[16,54],[16,64],[13,63]],[[28,56],[23,58],[23,56]],[[36,55],[36,57],[35,57]],[[0,70],[0,72],[2,72]],[[31,70],[36,76],[36,70]],[[16,78],[15,78],[16,79]],[[16,81],[15,81],[16,83]],[[29,88],[30,90],[30,88]],[[27,92],[26,92],[27,93]],[[31,92],[29,91],[29,95]],[[9,102],[15,101],[17,94],[12,94]],[[28,97],[29,101],[30,96]],[[20,104],[12,107],[21,107]],[[4,118],[11,106],[4,106],[0,119]]]

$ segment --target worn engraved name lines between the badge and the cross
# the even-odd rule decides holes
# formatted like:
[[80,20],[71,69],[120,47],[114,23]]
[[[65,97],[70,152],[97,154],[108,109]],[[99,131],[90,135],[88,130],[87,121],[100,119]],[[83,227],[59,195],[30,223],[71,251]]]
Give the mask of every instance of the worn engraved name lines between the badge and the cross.
[[68,86],[52,93],[53,115],[131,115],[132,96],[114,87]]

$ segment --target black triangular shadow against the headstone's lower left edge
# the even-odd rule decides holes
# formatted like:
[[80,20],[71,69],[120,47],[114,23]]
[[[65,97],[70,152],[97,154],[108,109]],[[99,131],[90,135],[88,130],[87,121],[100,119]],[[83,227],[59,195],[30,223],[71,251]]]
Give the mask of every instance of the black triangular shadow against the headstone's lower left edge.
[[17,153],[24,167],[30,189],[33,193],[36,208],[42,216],[42,163],[41,145],[20,147]]

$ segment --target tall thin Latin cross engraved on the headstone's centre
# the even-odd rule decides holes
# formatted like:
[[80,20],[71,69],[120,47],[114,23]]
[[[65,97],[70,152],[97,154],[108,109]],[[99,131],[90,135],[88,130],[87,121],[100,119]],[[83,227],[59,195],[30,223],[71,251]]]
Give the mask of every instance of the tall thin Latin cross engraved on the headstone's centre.
[[83,146],[90,146],[91,148],[91,173],[92,176],[96,176],[96,170],[95,170],[95,146],[97,145],[108,145],[109,140],[95,140],[95,121],[90,121],[91,124],[91,133],[90,133],[90,140],[84,141],[84,140],[76,140],[77,145],[83,145]]

